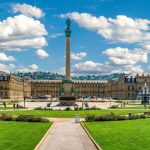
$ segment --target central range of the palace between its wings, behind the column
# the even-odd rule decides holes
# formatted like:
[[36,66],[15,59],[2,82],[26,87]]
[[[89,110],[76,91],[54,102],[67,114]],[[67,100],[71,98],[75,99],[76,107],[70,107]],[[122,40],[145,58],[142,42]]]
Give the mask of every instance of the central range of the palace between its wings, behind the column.
[[[72,82],[75,87],[76,98],[81,96],[103,96],[101,95],[103,94],[101,91],[106,81],[73,80]],[[61,94],[62,80],[32,80],[31,86],[33,98],[39,98],[45,95],[58,98]]]

